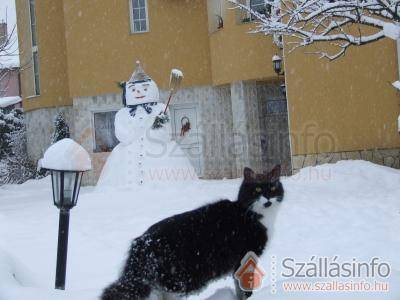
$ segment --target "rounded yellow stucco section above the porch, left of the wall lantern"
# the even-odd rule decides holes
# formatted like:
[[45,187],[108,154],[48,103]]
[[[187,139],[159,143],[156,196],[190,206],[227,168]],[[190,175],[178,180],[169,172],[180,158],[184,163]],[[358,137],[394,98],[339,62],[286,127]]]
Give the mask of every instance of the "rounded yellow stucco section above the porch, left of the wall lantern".
[[213,84],[275,79],[271,59],[280,51],[272,38],[248,34],[254,23],[240,24],[237,11],[229,7],[228,4],[225,6],[224,28],[210,36]]

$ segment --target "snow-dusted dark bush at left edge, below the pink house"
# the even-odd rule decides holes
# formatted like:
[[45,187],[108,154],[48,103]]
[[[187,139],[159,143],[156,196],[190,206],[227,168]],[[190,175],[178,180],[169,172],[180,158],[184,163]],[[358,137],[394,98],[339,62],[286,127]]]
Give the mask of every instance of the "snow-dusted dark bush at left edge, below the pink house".
[[34,175],[26,153],[23,111],[0,109],[0,185],[23,183]]

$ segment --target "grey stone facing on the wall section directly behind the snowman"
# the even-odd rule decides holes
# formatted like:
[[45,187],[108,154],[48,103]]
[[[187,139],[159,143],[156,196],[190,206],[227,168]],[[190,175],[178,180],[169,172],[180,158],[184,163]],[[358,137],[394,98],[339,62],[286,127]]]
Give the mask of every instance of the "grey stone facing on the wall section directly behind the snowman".
[[[168,98],[168,91],[160,91],[160,98]],[[232,139],[232,109],[229,86],[192,87],[179,90],[171,106],[194,104],[198,108],[201,146],[202,175],[204,178],[232,178],[234,160],[230,154]],[[119,110],[122,107],[120,94],[93,97],[76,97],[73,104],[75,135],[91,155],[93,170],[84,178],[84,184],[94,185],[109,153],[94,153],[93,114],[101,111]]]

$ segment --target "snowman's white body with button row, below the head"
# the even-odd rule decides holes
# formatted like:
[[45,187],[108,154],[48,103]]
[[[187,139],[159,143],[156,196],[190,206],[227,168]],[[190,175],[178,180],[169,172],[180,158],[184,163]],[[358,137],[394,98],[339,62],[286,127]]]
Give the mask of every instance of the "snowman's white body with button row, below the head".
[[197,179],[194,168],[172,140],[170,122],[153,129],[165,105],[151,111],[138,106],[122,108],[115,116],[115,133],[121,142],[109,156],[99,186],[135,186],[151,182]]

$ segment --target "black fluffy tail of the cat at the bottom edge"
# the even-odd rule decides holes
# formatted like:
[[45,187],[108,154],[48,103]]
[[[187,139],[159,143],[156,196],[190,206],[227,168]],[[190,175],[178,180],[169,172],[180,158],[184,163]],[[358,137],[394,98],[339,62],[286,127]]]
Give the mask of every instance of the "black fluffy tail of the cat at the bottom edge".
[[140,282],[115,282],[107,287],[101,300],[142,300],[150,296],[151,288]]

